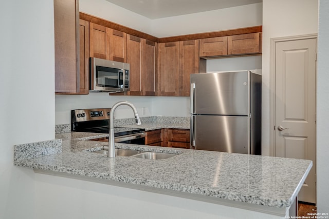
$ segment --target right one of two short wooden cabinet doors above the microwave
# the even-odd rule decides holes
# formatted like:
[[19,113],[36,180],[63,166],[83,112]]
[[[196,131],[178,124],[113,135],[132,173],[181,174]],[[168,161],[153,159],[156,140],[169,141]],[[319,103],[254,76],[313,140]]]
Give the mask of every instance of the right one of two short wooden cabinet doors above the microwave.
[[109,30],[109,59],[117,62],[127,62],[127,34],[118,30]]

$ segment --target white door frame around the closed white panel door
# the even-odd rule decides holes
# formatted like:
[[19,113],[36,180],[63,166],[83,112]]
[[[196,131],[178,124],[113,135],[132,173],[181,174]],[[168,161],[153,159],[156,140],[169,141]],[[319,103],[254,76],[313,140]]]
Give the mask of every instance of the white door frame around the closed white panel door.
[[[269,155],[275,156],[275,125],[276,125],[276,45],[279,42],[285,41],[296,41],[299,39],[312,39],[315,38],[317,41],[318,34],[306,34],[306,35],[297,35],[297,36],[286,36],[286,37],[275,37],[270,38],[270,67],[269,67]],[[317,71],[315,72],[317,73]],[[317,85],[315,85],[317,86]],[[317,103],[315,103],[317,105]],[[315,142],[316,135],[315,135]],[[316,146],[315,146],[316,147]]]

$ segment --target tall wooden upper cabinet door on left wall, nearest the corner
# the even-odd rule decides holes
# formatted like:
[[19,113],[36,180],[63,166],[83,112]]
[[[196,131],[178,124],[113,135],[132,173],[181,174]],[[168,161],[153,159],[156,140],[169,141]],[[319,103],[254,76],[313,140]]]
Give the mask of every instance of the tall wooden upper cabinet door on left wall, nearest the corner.
[[157,43],[144,39],[142,95],[157,94]]

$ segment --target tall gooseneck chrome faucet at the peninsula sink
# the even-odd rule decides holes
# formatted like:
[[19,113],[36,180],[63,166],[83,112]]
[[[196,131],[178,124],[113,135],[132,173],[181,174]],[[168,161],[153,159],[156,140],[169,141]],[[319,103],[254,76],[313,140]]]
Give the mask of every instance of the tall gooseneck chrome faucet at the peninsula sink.
[[135,121],[136,121],[136,125],[141,125],[142,123],[140,122],[140,118],[139,115],[137,113],[137,109],[136,107],[127,101],[120,101],[116,104],[113,105],[113,107],[111,108],[111,112],[109,113],[109,139],[108,139],[108,152],[107,152],[107,157],[115,157],[115,145],[114,145],[114,111],[116,110],[116,108],[118,106],[121,105],[127,105],[130,106],[130,108],[132,108],[132,110],[134,111],[134,115],[135,115]]

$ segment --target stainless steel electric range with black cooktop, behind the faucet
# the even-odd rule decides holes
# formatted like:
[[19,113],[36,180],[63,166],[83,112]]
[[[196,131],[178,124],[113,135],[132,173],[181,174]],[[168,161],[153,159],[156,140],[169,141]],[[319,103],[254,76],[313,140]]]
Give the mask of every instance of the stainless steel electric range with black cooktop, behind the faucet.
[[[71,131],[109,133],[111,108],[71,110]],[[115,142],[144,145],[145,129],[114,128]]]

